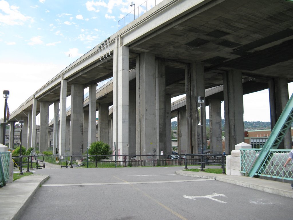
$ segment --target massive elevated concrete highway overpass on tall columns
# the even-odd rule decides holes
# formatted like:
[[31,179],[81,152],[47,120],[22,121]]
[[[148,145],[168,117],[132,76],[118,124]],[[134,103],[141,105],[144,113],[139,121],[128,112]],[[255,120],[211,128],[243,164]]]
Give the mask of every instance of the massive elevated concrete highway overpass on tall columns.
[[[206,89],[222,87],[222,91],[206,101],[215,116],[220,100],[225,101],[225,143],[229,153],[244,138],[243,94],[269,88],[272,126],[287,103],[287,83],[293,79],[292,8],[292,3],[281,0],[165,0],[62,70],[21,105],[15,116],[21,116],[31,106],[29,129],[34,131],[35,115],[40,109],[42,136],[41,131],[45,133],[48,126],[47,106],[52,103],[57,106],[60,102],[59,152],[63,152],[65,101],[71,95],[74,114],[71,114],[70,150],[80,154],[84,137],[81,91],[90,87],[88,142],[91,143],[97,109],[93,98],[95,86],[113,76],[111,145],[115,142],[121,154],[151,154],[161,150],[169,153],[170,99],[186,94],[186,116],[182,115],[186,120],[181,121],[185,121],[188,132],[186,146],[180,151],[196,153],[201,147],[197,123],[193,123],[197,121],[197,97],[205,96]],[[131,70],[136,70],[135,78],[129,81]],[[220,119],[211,120],[217,125]],[[220,130],[215,126],[211,129],[215,134],[212,146],[217,152]],[[285,145],[289,139],[288,134]]]

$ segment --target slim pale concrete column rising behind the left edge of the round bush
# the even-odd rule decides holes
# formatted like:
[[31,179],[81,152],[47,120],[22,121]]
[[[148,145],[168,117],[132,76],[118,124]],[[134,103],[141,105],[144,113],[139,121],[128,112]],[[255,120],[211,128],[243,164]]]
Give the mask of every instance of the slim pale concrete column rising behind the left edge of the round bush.
[[97,84],[89,86],[89,100],[88,100],[88,146],[96,141],[96,97]]

